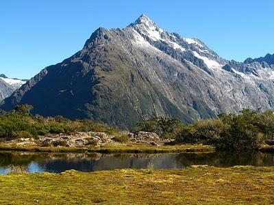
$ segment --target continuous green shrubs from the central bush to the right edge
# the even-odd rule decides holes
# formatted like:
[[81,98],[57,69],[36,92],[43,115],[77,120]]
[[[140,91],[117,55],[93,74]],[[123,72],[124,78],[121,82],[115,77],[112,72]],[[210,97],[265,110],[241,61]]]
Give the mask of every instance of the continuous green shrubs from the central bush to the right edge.
[[175,138],[176,143],[203,143],[223,150],[257,150],[273,143],[273,111],[244,109],[239,114],[221,114],[213,120],[183,125],[177,119],[155,118],[140,122],[134,131],[153,131]]

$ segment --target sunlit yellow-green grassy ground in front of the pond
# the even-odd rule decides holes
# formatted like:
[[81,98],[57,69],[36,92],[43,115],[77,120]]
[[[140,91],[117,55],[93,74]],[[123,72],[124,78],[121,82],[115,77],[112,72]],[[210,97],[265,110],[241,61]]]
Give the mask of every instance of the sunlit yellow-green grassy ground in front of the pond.
[[274,202],[274,167],[122,169],[0,176],[1,204]]

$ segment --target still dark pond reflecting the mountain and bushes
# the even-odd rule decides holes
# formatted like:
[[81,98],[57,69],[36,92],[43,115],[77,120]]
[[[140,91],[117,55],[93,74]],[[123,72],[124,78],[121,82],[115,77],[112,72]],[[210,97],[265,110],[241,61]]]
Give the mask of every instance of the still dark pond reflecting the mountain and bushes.
[[68,169],[82,172],[96,170],[147,168],[184,169],[190,165],[234,165],[274,166],[274,154],[247,152],[213,152],[181,154],[51,154],[30,152],[0,152],[0,174],[7,174],[9,165],[23,165],[28,172],[60,173]]

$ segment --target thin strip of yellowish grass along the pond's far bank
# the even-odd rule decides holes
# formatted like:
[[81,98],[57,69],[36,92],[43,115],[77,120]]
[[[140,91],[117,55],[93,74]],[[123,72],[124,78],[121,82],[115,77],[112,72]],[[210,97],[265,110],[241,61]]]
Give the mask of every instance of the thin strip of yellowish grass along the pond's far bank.
[[213,152],[212,146],[204,145],[176,145],[176,146],[149,146],[143,143],[113,143],[106,146],[78,147],[40,147],[18,146],[12,143],[0,143],[0,150],[25,152],[99,152],[99,153],[167,153],[167,152]]

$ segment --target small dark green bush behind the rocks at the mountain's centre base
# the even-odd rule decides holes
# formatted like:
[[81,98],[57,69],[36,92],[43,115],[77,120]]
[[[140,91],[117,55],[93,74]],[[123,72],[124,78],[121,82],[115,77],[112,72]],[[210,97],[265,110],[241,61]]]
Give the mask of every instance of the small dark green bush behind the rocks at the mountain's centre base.
[[153,118],[153,120],[139,122],[133,128],[133,132],[153,132],[157,133],[163,138],[174,138],[175,130],[181,126],[183,126],[182,122],[177,118],[158,117]]

